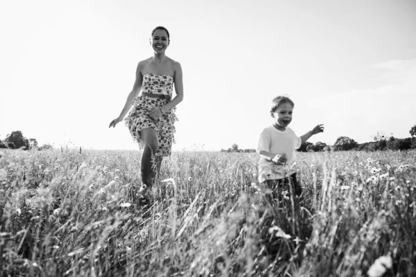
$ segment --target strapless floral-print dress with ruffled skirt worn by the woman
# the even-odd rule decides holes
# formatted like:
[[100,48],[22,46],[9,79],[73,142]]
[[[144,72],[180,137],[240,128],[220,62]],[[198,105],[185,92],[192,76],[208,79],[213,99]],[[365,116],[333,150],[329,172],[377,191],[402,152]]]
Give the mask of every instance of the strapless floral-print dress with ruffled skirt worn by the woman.
[[175,143],[173,134],[177,117],[174,109],[167,111],[159,118],[151,118],[149,113],[155,107],[166,105],[171,99],[173,91],[173,77],[169,75],[156,75],[146,73],[143,76],[142,93],[157,93],[168,96],[168,99],[151,98],[148,96],[137,96],[133,100],[133,107],[125,118],[125,125],[128,127],[132,138],[139,143],[139,148],[144,149],[144,141],[140,138],[140,131],[146,128],[153,128],[156,131],[159,141],[159,148],[156,156],[171,156],[172,144]]

